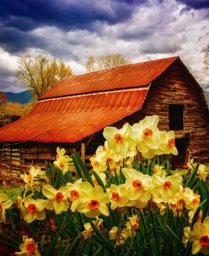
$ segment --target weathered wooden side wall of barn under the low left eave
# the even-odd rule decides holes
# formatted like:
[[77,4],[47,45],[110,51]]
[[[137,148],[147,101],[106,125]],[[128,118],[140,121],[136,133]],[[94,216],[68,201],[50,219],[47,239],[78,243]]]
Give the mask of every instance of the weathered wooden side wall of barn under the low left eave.
[[48,163],[56,158],[57,147],[64,147],[66,153],[70,154],[75,145],[38,142],[1,143],[0,181],[21,181],[19,175],[27,173],[31,166],[46,170]]

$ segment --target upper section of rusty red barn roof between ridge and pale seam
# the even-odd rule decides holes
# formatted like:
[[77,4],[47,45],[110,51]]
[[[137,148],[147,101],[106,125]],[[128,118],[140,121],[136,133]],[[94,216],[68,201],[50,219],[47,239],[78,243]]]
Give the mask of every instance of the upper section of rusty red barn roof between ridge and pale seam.
[[177,58],[179,57],[161,58],[84,75],[75,75],[59,82],[57,86],[44,93],[40,99],[146,86],[161,75]]

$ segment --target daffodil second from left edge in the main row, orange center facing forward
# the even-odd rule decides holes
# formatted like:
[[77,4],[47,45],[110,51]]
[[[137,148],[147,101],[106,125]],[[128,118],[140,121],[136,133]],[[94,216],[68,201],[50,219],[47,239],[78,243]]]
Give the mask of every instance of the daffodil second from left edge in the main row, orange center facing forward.
[[46,200],[39,198],[27,198],[24,200],[25,209],[22,209],[23,219],[27,223],[30,223],[34,220],[46,219],[46,212],[44,210],[46,202]]

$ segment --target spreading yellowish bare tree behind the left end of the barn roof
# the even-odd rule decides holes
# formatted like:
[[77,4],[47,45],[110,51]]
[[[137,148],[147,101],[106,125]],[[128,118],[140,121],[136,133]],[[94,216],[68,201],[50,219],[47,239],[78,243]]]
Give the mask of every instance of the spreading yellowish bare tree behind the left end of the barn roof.
[[24,55],[20,58],[19,68],[15,73],[21,85],[32,90],[36,98],[70,75],[73,75],[73,72],[66,64],[55,58],[49,60],[46,53],[41,53],[35,58]]

